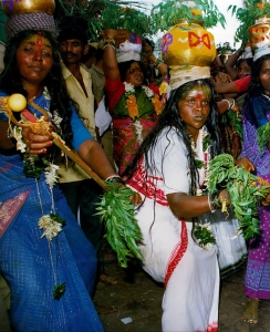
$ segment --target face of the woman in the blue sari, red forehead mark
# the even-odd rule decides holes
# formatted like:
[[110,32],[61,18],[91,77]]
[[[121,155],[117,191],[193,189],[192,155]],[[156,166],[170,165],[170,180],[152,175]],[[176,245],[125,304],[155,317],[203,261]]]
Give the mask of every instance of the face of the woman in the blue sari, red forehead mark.
[[17,63],[24,82],[41,83],[53,65],[50,41],[41,33],[23,40],[17,50]]

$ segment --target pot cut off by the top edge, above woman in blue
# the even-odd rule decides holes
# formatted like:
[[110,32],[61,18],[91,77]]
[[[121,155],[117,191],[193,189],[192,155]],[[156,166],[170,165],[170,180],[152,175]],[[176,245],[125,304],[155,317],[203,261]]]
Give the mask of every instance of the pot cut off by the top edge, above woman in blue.
[[2,8],[7,15],[45,12],[53,14],[55,9],[54,0],[2,0]]

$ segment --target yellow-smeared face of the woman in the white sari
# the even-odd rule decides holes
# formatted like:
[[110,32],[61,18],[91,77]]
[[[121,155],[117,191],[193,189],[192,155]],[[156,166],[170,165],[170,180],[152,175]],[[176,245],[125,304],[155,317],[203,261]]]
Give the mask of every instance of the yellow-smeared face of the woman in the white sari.
[[210,91],[201,86],[194,87],[184,100],[179,101],[179,115],[187,132],[197,137],[198,131],[204,126],[210,113]]

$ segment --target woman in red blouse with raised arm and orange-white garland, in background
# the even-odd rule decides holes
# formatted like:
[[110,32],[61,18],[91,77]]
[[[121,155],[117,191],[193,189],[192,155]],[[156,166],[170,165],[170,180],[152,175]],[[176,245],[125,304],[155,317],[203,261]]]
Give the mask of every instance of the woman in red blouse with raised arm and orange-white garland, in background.
[[[121,33],[129,38],[116,46]],[[146,76],[141,62],[142,41],[138,37],[107,29],[102,32],[104,38],[104,74],[108,110],[113,117],[114,159],[120,175],[132,162],[143,139],[156,125],[166,100],[166,90],[159,85],[145,85]],[[149,54],[154,66],[167,81],[167,66],[154,54]],[[165,82],[163,86],[166,86]],[[162,86],[160,86],[162,87]],[[163,93],[165,92],[165,93]],[[163,95],[162,95],[163,94]]]

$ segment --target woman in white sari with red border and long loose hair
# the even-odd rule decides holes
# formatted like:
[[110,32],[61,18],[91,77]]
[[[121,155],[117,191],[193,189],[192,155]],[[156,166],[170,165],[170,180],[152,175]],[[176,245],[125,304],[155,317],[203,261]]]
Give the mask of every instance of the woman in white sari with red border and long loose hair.
[[[229,205],[230,197],[227,189],[199,194],[206,170],[198,165],[207,167],[221,153],[218,111],[208,79],[178,81],[172,89],[157,125],[125,176],[143,196],[136,210],[143,268],[165,283],[163,331],[217,331],[217,247],[211,240],[204,246],[198,242],[217,203]],[[210,239],[210,229],[204,229]]]

